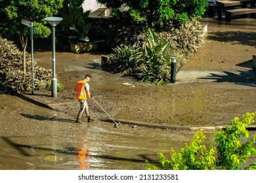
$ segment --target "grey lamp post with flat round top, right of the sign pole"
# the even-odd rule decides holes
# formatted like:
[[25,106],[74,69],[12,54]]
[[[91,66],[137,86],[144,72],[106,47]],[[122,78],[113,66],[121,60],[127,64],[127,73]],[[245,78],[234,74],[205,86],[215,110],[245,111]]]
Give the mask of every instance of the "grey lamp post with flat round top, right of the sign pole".
[[55,27],[60,23],[63,18],[60,17],[47,17],[44,18],[51,26],[53,27],[53,78],[51,81],[51,92],[52,97],[57,97],[57,79],[56,79],[56,71],[55,71]]

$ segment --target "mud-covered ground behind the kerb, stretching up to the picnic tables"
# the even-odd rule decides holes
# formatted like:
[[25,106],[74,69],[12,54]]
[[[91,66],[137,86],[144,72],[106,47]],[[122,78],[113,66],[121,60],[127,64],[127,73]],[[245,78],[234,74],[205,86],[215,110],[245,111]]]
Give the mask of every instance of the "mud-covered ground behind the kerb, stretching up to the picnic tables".
[[[256,72],[251,68],[255,22],[251,18],[201,22],[208,30],[205,43],[179,71],[175,84],[155,86],[108,73],[100,66],[101,53],[56,52],[56,74],[65,89],[56,99],[49,90],[28,96],[75,120],[79,108],[75,82],[90,73],[92,96],[114,119],[181,126],[230,124],[234,116],[255,111]],[[41,67],[52,69],[49,46],[35,46],[34,58]],[[95,118],[108,118],[92,99],[89,107]]]

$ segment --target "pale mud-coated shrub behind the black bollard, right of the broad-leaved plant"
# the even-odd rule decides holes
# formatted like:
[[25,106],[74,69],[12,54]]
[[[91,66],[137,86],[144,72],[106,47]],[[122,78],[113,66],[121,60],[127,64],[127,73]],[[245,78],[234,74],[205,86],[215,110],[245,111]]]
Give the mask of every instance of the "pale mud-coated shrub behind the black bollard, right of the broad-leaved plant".
[[[175,57],[177,59],[177,72],[182,65],[184,65],[189,56],[191,56],[193,52],[198,51],[204,39],[202,25],[197,20],[190,21],[181,27],[168,25],[164,29],[156,31],[156,37],[158,37],[159,42],[169,42],[166,55],[169,58]],[[140,48],[145,45],[144,33],[140,33],[140,35],[137,35],[133,46]]]

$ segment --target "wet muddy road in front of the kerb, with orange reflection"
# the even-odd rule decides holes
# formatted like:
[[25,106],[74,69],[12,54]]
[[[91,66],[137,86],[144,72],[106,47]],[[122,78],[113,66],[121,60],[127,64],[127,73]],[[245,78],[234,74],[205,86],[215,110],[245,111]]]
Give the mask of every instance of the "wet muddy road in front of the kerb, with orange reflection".
[[168,155],[193,135],[123,124],[114,128],[102,121],[75,124],[60,112],[3,98],[14,98],[20,109],[7,116],[11,103],[1,107],[0,169],[146,169],[145,159],[158,161],[158,152]]

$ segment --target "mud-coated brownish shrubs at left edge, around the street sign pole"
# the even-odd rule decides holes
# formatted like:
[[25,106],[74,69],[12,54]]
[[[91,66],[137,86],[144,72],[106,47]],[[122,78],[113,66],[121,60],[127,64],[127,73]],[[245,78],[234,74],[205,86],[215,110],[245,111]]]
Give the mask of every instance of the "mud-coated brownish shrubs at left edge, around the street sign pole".
[[[13,42],[0,37],[0,77],[9,92],[30,92],[32,90],[32,59],[27,56],[28,71],[24,73],[22,68],[22,52]],[[33,89],[43,90],[51,87],[52,71],[37,66],[33,62]],[[57,90],[63,90],[63,84],[57,85]]]

